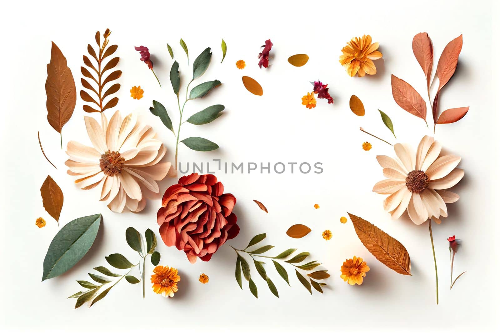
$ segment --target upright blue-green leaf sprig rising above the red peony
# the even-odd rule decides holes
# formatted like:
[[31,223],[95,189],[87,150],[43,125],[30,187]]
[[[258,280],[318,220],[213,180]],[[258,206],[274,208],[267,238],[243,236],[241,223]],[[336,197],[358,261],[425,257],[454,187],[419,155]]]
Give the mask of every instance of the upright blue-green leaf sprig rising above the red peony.
[[[185,42],[181,39],[180,40],[180,45],[184,49],[186,55],[187,53],[187,46]],[[173,52],[171,50],[171,47],[167,44],[168,47],[168,53],[170,56],[173,58]],[[170,131],[172,131],[173,135],[175,136],[175,170],[177,169],[177,155],[178,155],[178,145],[179,142],[182,142],[185,146],[192,150],[197,150],[197,151],[210,151],[210,150],[215,150],[219,146],[205,138],[193,136],[193,137],[188,137],[185,139],[182,139],[179,141],[180,138],[180,127],[183,123],[188,122],[193,125],[203,125],[203,124],[208,124],[212,122],[213,120],[217,119],[220,117],[222,114],[222,110],[224,110],[224,105],[221,104],[216,104],[216,105],[211,105],[206,107],[205,109],[194,113],[191,115],[189,118],[186,120],[182,120],[184,116],[184,107],[189,100],[193,100],[196,98],[202,98],[206,96],[212,89],[218,87],[221,82],[219,80],[213,80],[213,81],[206,81],[203,83],[200,83],[193,87],[189,91],[189,86],[190,84],[197,78],[199,78],[203,73],[206,71],[208,68],[208,65],[210,64],[210,59],[212,56],[212,52],[210,52],[210,47],[207,47],[201,52],[198,57],[194,60],[192,63],[192,79],[187,83],[186,90],[185,90],[185,100],[181,104],[180,102],[180,75],[179,75],[179,64],[176,60],[174,60],[172,67],[170,69],[170,83],[172,85],[173,93],[177,96],[177,107],[179,111],[179,120],[178,120],[178,126],[177,126],[177,131],[174,130],[172,121],[170,119],[170,116],[168,115],[168,112],[166,108],[158,101],[153,100],[152,104],[153,106],[149,108],[149,111],[151,111],[152,114],[155,116],[159,117],[161,122],[165,125],[166,128],[168,128]],[[182,106],[181,106],[182,105]]]

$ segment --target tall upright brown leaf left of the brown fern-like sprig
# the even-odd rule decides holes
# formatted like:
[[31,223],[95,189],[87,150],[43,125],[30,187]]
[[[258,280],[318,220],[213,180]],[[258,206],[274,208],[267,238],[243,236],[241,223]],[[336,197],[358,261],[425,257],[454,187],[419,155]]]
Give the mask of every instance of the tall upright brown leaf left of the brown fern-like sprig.
[[62,126],[73,114],[76,105],[76,87],[66,58],[54,42],[50,51],[50,63],[47,64],[45,93],[48,123],[60,133]]

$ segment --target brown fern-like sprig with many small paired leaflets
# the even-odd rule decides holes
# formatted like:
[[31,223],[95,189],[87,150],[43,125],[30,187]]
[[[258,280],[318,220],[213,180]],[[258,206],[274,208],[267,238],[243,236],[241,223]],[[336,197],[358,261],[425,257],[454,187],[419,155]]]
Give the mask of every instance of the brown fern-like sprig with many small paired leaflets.
[[[83,55],[83,64],[88,68],[83,66],[80,67],[81,75],[85,78],[81,78],[81,85],[83,88],[88,89],[92,95],[91,96],[87,91],[80,90],[80,98],[90,105],[83,105],[83,111],[85,112],[103,112],[106,109],[115,107],[118,104],[118,97],[112,97],[111,94],[116,93],[120,84],[115,83],[110,87],[105,86],[107,83],[118,79],[121,76],[121,70],[112,71],[109,75],[104,75],[106,71],[116,67],[118,62],[120,61],[119,57],[114,57],[111,60],[104,62],[104,59],[109,55],[113,54],[118,45],[111,45],[107,47],[109,43],[109,35],[111,32],[109,29],[102,34],[104,40],[101,44],[101,36],[100,32],[97,31],[95,33],[95,42],[97,43],[98,49],[97,51],[92,48],[90,44],[87,45],[87,52],[90,57]],[[93,81],[93,82],[92,82]],[[111,98],[107,101],[104,101],[106,97],[110,96]],[[95,105],[93,105],[95,104]]]

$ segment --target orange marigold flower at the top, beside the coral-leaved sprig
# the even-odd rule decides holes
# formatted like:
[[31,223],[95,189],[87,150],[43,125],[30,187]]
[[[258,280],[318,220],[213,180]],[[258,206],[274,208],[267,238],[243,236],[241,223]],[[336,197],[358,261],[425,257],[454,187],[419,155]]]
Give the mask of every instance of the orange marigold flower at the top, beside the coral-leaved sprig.
[[344,66],[347,74],[364,76],[375,74],[376,68],[372,60],[380,59],[382,53],[377,51],[378,43],[371,43],[370,35],[354,37],[342,48],[339,62]]

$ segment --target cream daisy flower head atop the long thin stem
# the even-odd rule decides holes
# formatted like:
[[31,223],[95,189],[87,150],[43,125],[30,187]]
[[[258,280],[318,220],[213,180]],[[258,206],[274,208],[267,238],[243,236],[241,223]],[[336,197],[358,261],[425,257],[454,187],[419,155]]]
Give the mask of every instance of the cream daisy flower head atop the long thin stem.
[[390,194],[383,201],[383,208],[397,219],[408,211],[415,224],[427,219],[441,223],[439,217],[448,215],[446,204],[455,202],[459,196],[446,191],[460,181],[463,170],[456,169],[460,158],[454,155],[440,156],[441,145],[425,135],[415,155],[408,146],[396,143],[394,151],[398,160],[388,156],[376,157],[388,179],[373,186],[373,192]]

